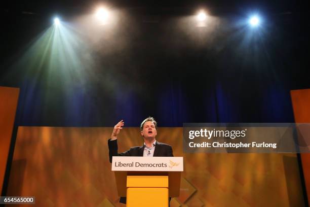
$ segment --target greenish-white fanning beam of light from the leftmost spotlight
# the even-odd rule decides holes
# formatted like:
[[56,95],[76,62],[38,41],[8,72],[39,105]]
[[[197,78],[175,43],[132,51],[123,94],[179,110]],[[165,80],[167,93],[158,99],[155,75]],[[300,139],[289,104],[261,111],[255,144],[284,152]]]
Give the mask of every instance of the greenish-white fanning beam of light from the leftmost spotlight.
[[[87,83],[93,78],[95,62],[92,49],[74,29],[64,22],[57,27],[50,26],[29,43],[8,73],[1,77],[7,82],[18,79],[27,97],[23,103],[25,111],[33,112],[25,116],[33,119],[45,116],[40,115],[36,107],[43,106],[43,111],[55,110],[60,99],[67,109],[65,116],[78,116],[77,112],[83,111],[80,97],[84,97]],[[74,101],[73,106],[75,99],[78,101]]]

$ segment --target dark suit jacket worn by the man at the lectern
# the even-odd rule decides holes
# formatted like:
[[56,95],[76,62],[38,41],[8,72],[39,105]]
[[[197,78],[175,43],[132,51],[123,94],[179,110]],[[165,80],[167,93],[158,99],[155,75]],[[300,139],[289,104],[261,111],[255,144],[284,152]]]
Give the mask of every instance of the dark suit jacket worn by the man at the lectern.
[[[135,156],[135,157],[142,157],[144,151],[144,145],[141,147],[132,147],[126,152],[118,153],[118,140],[111,139],[108,140],[108,147],[109,147],[109,159],[112,163],[112,156]],[[153,157],[173,157],[172,147],[170,145],[160,143],[156,141],[155,151]],[[169,198],[170,200],[171,198]],[[126,203],[126,197],[121,197],[121,203]]]

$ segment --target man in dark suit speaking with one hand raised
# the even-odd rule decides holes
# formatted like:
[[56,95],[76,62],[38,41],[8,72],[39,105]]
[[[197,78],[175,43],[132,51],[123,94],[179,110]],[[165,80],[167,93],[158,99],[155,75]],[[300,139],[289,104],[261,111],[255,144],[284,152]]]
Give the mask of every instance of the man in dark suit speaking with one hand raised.
[[[112,156],[173,157],[170,145],[156,141],[157,122],[153,117],[147,117],[140,125],[144,145],[132,147],[126,152],[118,153],[118,134],[120,130],[123,129],[124,124],[123,120],[117,123],[117,125],[114,126],[111,139],[108,140],[110,162],[112,162]],[[121,197],[120,202],[126,203],[126,197]]]

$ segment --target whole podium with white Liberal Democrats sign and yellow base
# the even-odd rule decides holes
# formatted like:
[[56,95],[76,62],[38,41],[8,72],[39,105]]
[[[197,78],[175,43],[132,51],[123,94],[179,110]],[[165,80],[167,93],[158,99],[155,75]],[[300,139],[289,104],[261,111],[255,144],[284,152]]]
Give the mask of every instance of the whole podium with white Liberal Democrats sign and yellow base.
[[118,194],[127,206],[168,206],[180,193],[183,157],[112,157]]

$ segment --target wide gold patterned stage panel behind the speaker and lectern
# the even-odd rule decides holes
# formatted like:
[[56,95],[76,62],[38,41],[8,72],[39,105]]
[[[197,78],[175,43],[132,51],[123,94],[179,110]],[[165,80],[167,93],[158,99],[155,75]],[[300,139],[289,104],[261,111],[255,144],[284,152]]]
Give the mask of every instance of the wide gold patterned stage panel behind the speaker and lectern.
[[[8,195],[35,196],[37,206],[125,206],[108,160],[111,131],[19,127]],[[119,151],[142,145],[139,134],[138,127],[124,128]],[[291,192],[302,195],[300,183],[289,182],[299,178],[295,154],[183,154],[179,127],[159,128],[157,140],[184,157],[181,192],[172,207],[290,206]]]

